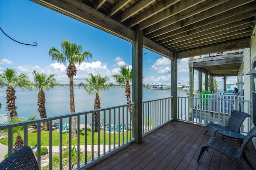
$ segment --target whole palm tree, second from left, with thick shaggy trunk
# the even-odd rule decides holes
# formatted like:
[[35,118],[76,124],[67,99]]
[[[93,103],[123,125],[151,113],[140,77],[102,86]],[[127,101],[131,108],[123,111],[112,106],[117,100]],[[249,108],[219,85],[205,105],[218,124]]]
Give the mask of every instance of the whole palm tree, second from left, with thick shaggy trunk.
[[[33,71],[34,75],[34,84],[33,85],[25,85],[22,87],[23,90],[29,89],[29,90],[36,90],[39,89],[38,92],[38,112],[40,113],[41,118],[47,117],[46,115],[46,109],[45,109],[45,93],[44,90],[50,90],[56,85],[59,85],[59,83],[56,82],[55,74],[50,74],[49,77],[47,77],[44,73],[37,73],[35,70]],[[43,122],[44,130],[49,130],[49,124],[48,122]]]

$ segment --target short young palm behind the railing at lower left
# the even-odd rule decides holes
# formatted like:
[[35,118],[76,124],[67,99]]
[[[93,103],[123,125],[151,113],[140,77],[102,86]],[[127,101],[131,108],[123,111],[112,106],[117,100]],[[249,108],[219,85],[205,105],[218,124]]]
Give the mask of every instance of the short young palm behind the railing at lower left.
[[[32,115],[30,117],[28,117],[28,119],[26,119],[25,117],[11,117],[10,119],[8,119],[8,121],[4,122],[3,124],[10,124],[10,123],[19,123],[19,122],[24,122],[24,121],[31,121],[36,119],[37,115]],[[28,125],[28,128],[31,125]],[[19,127],[13,127],[13,134],[16,136],[16,140],[14,145],[12,146],[13,151],[15,152],[16,150],[18,150],[19,148],[22,148],[22,146],[24,146],[24,140],[22,139],[21,134],[24,133],[24,126],[19,126]],[[7,135],[8,134],[8,128],[5,128],[3,130],[1,130],[0,132],[1,134]]]

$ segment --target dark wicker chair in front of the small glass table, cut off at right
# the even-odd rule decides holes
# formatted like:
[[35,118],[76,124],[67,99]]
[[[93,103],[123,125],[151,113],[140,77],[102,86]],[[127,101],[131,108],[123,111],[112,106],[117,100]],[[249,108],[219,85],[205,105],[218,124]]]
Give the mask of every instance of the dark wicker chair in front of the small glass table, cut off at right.
[[242,146],[235,147],[231,145],[230,143],[226,142],[225,140],[221,140],[216,137],[211,137],[209,139],[209,142],[207,144],[204,144],[200,150],[200,154],[197,158],[197,162],[200,160],[202,154],[204,151],[208,148],[212,148],[214,150],[217,150],[218,152],[224,154],[230,159],[230,162],[236,167],[236,169],[242,170],[243,169],[243,162],[242,159],[248,163],[248,165],[253,168],[252,164],[248,160],[246,156],[246,146],[250,142],[250,140],[256,137],[256,127],[253,127],[252,130],[247,134],[247,136],[244,138],[244,142]]

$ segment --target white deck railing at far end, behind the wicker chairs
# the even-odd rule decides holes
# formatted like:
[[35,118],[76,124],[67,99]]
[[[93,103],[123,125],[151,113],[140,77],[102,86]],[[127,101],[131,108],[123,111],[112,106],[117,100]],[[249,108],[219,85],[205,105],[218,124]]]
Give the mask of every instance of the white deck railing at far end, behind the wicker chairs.
[[[251,100],[243,100],[243,96],[196,93],[194,97],[178,97],[178,119],[200,125],[210,122],[227,125],[232,110],[250,114],[251,103]],[[241,132],[250,130],[250,119],[246,121]]]

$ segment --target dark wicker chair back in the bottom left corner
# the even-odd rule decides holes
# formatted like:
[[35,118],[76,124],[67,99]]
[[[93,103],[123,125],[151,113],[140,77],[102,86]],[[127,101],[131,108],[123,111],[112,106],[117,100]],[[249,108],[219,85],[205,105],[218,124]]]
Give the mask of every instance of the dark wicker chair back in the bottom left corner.
[[0,170],[39,170],[39,167],[32,149],[25,145],[1,162]]

